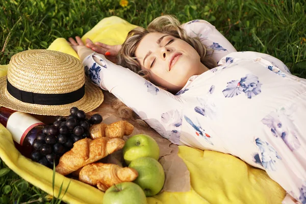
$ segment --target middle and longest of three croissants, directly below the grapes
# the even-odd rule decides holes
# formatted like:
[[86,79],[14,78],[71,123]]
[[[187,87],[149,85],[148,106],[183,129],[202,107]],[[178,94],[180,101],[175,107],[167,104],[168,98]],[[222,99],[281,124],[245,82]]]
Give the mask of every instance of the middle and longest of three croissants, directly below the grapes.
[[123,148],[124,143],[122,139],[107,137],[95,140],[89,138],[79,140],[60,158],[56,171],[62,175],[67,175]]

